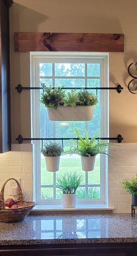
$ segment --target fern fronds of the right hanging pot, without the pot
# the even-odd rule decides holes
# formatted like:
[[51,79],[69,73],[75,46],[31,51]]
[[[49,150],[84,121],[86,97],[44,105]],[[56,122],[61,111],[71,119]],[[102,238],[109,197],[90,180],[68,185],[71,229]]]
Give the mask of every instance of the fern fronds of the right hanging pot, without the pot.
[[82,157],[93,157],[97,154],[107,154],[106,150],[109,143],[104,141],[96,141],[99,133],[95,133],[92,138],[89,138],[88,131],[85,128],[85,138],[81,135],[77,127],[74,126],[75,135],[78,141],[73,141],[74,148],[71,148],[71,153],[81,155]]

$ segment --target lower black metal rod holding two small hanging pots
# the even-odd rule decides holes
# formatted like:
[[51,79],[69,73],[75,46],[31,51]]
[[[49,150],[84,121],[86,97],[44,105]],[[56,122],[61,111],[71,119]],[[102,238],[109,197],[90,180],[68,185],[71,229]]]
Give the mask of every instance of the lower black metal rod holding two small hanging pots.
[[[91,138],[89,138],[91,139]],[[79,138],[23,138],[23,136],[20,134],[16,140],[19,141],[19,143],[23,143],[24,140],[41,140],[41,141],[44,141],[44,140],[79,140]],[[118,143],[121,143],[121,141],[123,140],[121,134],[118,134],[117,137],[112,137],[112,138],[102,138],[102,137],[98,137],[96,138],[96,140],[117,140]]]

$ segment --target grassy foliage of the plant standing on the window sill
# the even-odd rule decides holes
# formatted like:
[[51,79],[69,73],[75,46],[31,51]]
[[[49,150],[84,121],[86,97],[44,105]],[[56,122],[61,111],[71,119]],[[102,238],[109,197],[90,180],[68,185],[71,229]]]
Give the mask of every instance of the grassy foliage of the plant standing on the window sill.
[[57,177],[57,187],[62,190],[63,194],[75,194],[78,186],[82,182],[82,176],[76,172],[65,173]]

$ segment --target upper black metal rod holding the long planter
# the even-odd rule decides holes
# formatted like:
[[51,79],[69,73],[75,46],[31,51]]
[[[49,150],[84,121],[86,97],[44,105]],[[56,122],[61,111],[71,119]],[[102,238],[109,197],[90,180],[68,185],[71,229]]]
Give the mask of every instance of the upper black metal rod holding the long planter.
[[[48,87],[47,87],[48,88]],[[55,89],[56,87],[52,87]],[[117,90],[117,93],[121,93],[121,90],[123,90],[123,87],[121,87],[120,84],[118,84],[117,87],[61,87],[63,90]],[[22,90],[44,90],[43,87],[24,87],[21,86],[21,84],[18,84],[18,86],[15,87],[15,89],[18,91],[18,93],[21,93]]]

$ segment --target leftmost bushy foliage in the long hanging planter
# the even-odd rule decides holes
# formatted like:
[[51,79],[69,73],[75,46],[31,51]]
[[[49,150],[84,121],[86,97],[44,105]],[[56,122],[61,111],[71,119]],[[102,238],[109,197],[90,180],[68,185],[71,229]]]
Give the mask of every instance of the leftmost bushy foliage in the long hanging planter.
[[51,86],[46,88],[45,84],[42,83],[41,86],[44,88],[44,93],[41,95],[41,103],[43,103],[46,108],[57,108],[59,105],[63,105],[63,98],[65,91],[58,87],[53,89]]

